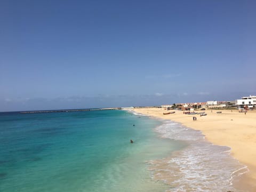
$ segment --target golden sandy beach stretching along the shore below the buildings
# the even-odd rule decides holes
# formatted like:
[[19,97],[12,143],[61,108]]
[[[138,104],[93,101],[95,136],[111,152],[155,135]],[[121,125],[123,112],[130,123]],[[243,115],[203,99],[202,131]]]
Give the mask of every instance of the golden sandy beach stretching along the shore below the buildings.
[[[187,127],[200,130],[214,145],[228,146],[231,155],[249,168],[238,183],[238,188],[256,191],[256,111],[239,113],[238,110],[206,110],[206,116],[186,115],[175,110],[163,115],[163,108],[134,108],[135,113],[162,119],[171,119]],[[174,110],[170,110],[174,111]],[[218,114],[217,111],[222,111]],[[202,112],[202,111],[198,111]],[[197,117],[193,121],[193,116]]]

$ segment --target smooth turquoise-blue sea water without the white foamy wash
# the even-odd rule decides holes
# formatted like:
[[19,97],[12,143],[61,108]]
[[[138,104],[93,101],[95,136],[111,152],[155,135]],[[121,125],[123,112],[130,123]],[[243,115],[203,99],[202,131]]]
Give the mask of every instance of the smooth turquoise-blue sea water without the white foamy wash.
[[121,110],[1,113],[0,191],[165,191],[147,162],[185,144],[159,125]]

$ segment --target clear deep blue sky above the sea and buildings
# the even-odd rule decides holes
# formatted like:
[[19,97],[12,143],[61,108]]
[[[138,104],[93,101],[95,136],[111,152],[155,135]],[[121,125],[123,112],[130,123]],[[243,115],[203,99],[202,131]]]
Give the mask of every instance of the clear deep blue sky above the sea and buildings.
[[256,1],[0,0],[0,111],[256,95]]

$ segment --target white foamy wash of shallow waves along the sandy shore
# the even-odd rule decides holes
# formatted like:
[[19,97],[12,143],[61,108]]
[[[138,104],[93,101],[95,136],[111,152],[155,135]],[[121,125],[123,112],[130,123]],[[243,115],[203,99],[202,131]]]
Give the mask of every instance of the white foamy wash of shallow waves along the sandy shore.
[[164,121],[155,131],[162,138],[186,141],[188,147],[149,161],[154,180],[170,185],[170,191],[238,191],[233,187],[234,179],[249,170],[230,155],[231,148],[213,145],[201,131],[173,121]]

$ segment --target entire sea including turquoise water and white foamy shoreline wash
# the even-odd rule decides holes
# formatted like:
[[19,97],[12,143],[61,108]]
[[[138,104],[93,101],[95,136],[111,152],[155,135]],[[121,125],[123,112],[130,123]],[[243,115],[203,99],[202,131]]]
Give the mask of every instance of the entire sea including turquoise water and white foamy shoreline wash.
[[131,111],[0,113],[2,192],[236,191],[246,171],[201,132]]

